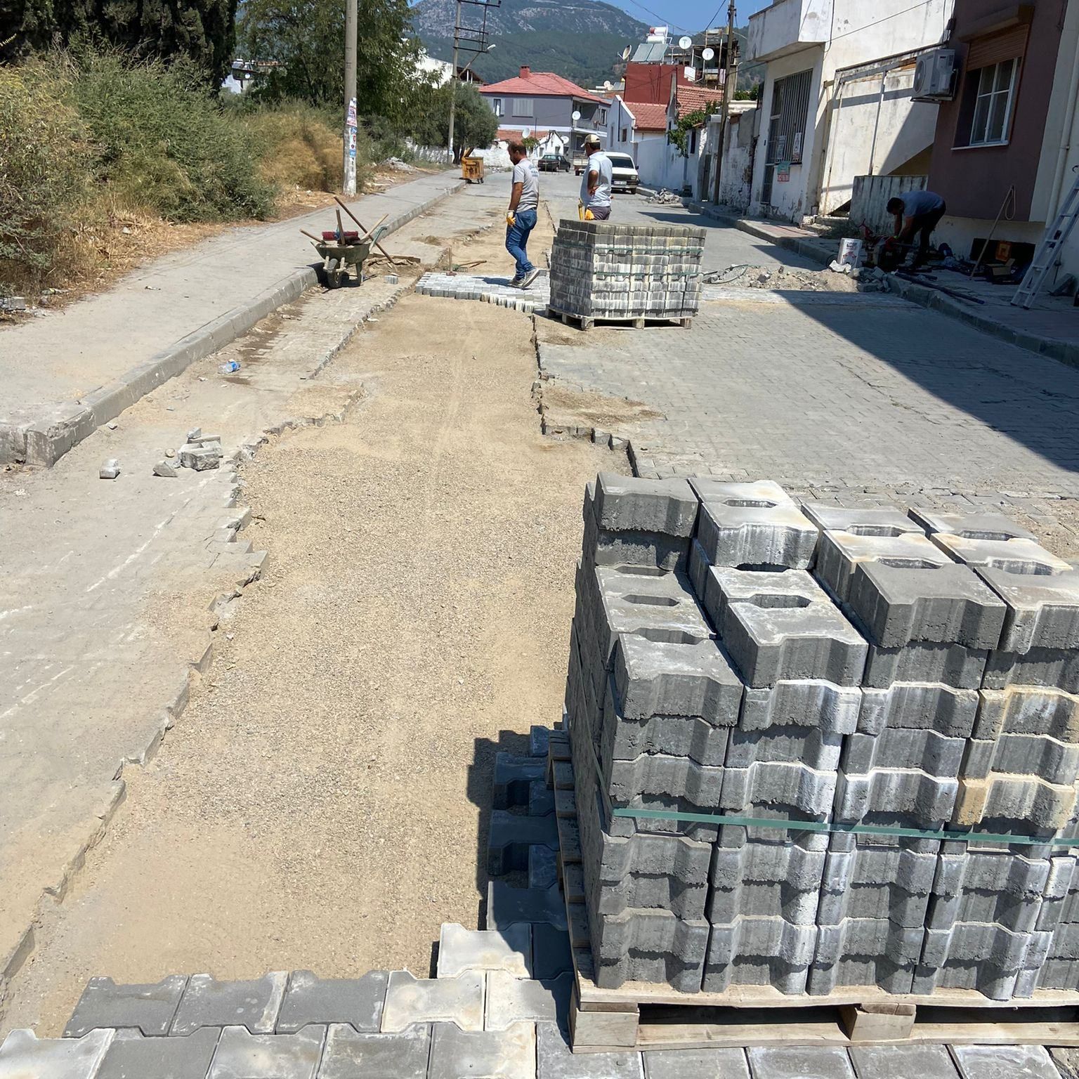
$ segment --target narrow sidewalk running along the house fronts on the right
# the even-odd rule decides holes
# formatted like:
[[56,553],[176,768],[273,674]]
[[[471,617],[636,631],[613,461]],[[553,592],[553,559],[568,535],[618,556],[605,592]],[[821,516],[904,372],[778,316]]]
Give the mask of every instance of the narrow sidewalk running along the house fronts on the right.
[[[836,241],[823,240],[815,232],[800,229],[790,222],[741,218],[734,210],[702,203],[692,203],[689,208],[705,217],[733,224],[752,236],[796,251],[822,265],[828,265],[837,254]],[[1062,303],[1051,297],[1040,296],[1035,306],[1026,311],[1011,305],[1012,288],[987,282],[970,282],[964,275],[951,271],[940,271],[939,274],[934,271],[934,275],[940,285],[972,292],[983,303],[954,299],[933,288],[931,283],[920,285],[894,275],[888,277],[888,285],[904,300],[958,318],[983,333],[992,333],[1020,349],[1049,356],[1069,367],[1079,367],[1079,317],[1070,301]]]

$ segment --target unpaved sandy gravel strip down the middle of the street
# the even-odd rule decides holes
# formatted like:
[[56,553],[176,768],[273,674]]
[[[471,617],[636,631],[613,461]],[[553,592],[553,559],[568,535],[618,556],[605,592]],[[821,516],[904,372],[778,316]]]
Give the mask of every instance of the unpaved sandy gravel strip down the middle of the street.
[[269,568],[4,1028],[59,1033],[95,974],[426,974],[441,921],[476,926],[494,753],[559,718],[583,488],[626,465],[541,436],[516,313],[409,296],[325,372],[357,374],[343,424],[246,467]]

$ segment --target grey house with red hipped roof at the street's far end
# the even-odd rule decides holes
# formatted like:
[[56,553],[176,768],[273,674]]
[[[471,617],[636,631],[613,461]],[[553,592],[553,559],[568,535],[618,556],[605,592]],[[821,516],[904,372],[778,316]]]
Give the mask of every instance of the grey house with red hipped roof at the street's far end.
[[[606,139],[611,103],[552,71],[522,67],[514,79],[481,86],[480,93],[498,118],[500,132],[555,132],[569,138],[571,152],[579,151],[584,138],[596,133]],[[577,120],[573,113],[579,112]]]

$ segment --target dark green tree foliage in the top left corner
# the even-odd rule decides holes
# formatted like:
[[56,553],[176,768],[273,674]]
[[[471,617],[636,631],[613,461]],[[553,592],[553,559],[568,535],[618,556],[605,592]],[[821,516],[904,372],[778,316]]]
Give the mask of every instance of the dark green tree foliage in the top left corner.
[[235,21],[236,0],[0,0],[0,57],[110,44],[135,59],[189,59],[216,87],[232,62]]

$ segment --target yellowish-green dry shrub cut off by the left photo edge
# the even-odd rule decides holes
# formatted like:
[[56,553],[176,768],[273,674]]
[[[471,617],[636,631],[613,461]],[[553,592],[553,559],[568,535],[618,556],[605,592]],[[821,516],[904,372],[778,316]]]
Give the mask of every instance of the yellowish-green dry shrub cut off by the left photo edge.
[[45,64],[0,68],[0,279],[40,285],[87,192],[90,148],[70,83]]

